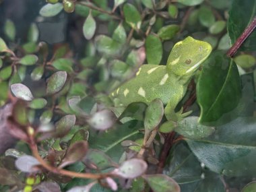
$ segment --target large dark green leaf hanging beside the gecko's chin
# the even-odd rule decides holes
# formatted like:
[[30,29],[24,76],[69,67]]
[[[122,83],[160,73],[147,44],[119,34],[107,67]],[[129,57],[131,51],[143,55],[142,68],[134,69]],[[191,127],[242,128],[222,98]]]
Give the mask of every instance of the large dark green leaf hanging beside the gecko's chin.
[[[234,62],[218,51],[205,61],[197,82],[197,102],[201,108],[199,122],[214,124],[230,112],[241,99],[241,84]],[[232,117],[226,117],[226,121]],[[217,122],[216,122],[217,121]]]

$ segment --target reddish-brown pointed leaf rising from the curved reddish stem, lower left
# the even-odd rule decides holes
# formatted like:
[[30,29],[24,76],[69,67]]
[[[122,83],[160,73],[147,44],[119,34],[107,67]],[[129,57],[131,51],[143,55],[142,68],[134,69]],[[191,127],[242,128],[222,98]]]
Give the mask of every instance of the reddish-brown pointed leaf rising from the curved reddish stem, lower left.
[[67,152],[61,164],[59,165],[59,168],[63,168],[69,164],[73,164],[74,162],[82,160],[82,158],[86,156],[87,150],[87,141],[77,141],[73,143],[71,146],[69,146],[69,148],[67,148]]

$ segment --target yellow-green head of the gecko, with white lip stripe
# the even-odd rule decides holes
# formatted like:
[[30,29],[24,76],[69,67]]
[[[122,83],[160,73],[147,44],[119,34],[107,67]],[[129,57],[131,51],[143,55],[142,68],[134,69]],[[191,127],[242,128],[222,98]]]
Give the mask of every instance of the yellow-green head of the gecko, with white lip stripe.
[[174,44],[167,61],[167,71],[178,76],[192,76],[212,52],[212,46],[188,36]]

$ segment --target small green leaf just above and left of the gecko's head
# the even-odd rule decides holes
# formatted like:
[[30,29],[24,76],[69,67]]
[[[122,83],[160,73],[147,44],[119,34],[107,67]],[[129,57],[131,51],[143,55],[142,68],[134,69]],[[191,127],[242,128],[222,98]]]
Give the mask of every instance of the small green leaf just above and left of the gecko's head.
[[162,40],[171,40],[172,38],[174,38],[177,32],[179,32],[179,30],[180,27],[178,25],[164,26],[158,31],[158,36]]

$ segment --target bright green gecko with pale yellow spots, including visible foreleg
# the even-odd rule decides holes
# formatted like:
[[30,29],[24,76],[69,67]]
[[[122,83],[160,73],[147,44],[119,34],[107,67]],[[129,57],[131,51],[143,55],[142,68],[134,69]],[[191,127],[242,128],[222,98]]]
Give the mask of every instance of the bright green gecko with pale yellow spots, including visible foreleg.
[[167,65],[142,65],[136,76],[110,94],[115,106],[145,102],[160,98],[166,107],[166,119],[177,121],[182,109],[174,109],[185,96],[187,86],[199,66],[212,52],[212,46],[188,36],[177,42],[170,52]]

